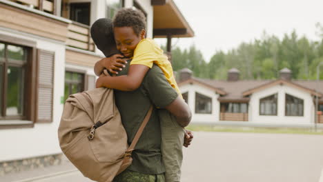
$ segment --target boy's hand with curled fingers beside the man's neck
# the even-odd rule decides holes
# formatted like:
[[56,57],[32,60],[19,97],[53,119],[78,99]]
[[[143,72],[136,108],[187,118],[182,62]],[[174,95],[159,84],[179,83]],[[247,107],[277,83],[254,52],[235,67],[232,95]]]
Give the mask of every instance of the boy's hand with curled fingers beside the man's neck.
[[112,74],[118,74],[125,67],[126,63],[127,59],[124,59],[124,56],[121,54],[114,54],[111,57],[101,59],[101,64]]

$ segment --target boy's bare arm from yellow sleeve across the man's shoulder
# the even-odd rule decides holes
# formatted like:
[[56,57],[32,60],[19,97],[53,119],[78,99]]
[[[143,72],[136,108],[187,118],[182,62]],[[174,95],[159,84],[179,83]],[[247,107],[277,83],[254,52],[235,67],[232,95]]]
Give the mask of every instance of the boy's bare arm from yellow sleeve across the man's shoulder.
[[149,67],[146,65],[130,65],[128,74],[119,77],[99,77],[96,87],[113,88],[122,91],[133,91],[139,88]]

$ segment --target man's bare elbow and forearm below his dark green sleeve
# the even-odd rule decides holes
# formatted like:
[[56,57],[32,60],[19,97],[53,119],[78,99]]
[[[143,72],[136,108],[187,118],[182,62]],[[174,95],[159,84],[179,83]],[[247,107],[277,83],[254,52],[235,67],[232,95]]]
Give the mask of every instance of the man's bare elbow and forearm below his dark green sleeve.
[[186,127],[190,123],[190,119],[192,119],[190,108],[184,99],[179,96],[172,103],[167,105],[165,109],[175,116],[177,123],[182,127]]

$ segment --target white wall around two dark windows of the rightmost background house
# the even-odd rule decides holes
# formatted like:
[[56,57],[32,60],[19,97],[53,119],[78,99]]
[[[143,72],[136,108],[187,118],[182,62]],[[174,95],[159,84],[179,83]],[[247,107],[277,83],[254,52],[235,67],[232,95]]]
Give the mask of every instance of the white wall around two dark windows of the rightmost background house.
[[[260,99],[277,93],[277,116],[260,115]],[[285,116],[285,94],[291,94],[300,99],[304,99],[303,117]],[[260,90],[251,95],[249,101],[249,121],[259,123],[313,123],[314,122],[314,104],[311,94],[288,85],[275,85],[265,90]]]

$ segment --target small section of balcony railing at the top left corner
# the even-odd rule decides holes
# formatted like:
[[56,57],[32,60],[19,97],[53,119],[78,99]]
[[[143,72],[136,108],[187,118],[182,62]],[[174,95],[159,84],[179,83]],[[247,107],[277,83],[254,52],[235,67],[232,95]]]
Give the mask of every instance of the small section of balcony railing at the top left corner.
[[35,8],[37,10],[50,12],[55,14],[55,6],[53,1],[47,0],[9,0],[15,3],[20,3],[30,8]]

